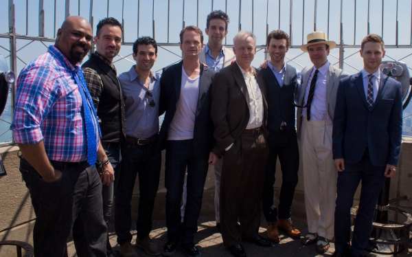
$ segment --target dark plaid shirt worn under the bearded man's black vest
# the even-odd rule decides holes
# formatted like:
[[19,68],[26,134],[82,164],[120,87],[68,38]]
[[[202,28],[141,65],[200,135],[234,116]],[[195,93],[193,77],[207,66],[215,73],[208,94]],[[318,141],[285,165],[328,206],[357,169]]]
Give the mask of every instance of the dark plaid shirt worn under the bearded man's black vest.
[[[111,63],[109,60],[104,58],[101,54],[98,52],[93,53],[95,56],[98,56],[100,60],[102,60],[106,65],[111,67],[113,69],[113,72],[117,76],[117,71],[115,68],[115,65]],[[94,70],[89,67],[83,69],[83,75],[84,75],[84,80],[86,80],[87,87],[89,88],[90,96],[91,99],[93,100],[93,104],[95,106],[96,113],[98,112],[98,106],[100,102],[100,96],[102,95],[102,91],[104,88],[102,78],[100,78],[100,75]],[[99,119],[99,123],[101,123]]]

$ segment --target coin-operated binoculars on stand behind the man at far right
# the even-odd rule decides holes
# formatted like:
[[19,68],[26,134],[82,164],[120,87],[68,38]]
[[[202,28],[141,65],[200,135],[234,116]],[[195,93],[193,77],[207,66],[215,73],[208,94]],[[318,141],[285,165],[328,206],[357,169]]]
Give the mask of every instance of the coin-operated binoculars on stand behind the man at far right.
[[[412,97],[412,78],[409,76],[407,65],[396,61],[382,61],[379,69],[382,74],[390,76],[401,83],[402,107],[405,109]],[[398,176],[400,175],[400,172],[398,172]],[[407,249],[407,244],[411,241],[409,232],[412,225],[412,216],[403,210],[389,206],[389,203],[398,203],[399,201],[409,199],[407,196],[389,199],[390,185],[391,179],[387,178],[376,205],[374,225],[369,236],[367,251],[377,254],[393,254],[393,256],[396,256],[404,249]],[[351,210],[354,219],[356,219],[357,210],[358,206],[355,206]],[[396,221],[389,221],[389,211],[394,213],[393,216]],[[398,215],[404,216],[403,222],[398,222]]]

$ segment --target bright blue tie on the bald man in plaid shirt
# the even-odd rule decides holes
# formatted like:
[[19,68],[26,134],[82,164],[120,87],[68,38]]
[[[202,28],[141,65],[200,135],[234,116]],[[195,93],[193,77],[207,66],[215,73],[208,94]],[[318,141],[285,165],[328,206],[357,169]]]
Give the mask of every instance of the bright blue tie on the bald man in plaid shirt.
[[[93,115],[95,116],[96,112],[92,104],[91,96],[88,93],[89,91],[86,89],[86,81],[84,80],[82,69],[80,67],[76,67],[73,71],[73,76],[79,87],[80,95],[82,95],[82,113],[84,115],[87,135],[87,162],[93,166],[98,159],[98,153],[96,151],[98,143],[96,142],[96,132],[99,131],[98,133],[100,134],[100,128],[96,128],[98,124],[93,121]],[[94,117],[94,120],[98,120],[96,116]]]

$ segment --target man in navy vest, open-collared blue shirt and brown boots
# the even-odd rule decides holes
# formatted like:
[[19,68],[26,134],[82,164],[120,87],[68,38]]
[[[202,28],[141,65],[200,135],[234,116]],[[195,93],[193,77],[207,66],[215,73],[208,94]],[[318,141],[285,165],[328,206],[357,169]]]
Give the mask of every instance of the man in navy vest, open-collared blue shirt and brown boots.
[[[266,177],[262,195],[262,209],[266,218],[268,239],[279,243],[284,230],[292,238],[300,238],[301,232],[290,219],[293,195],[299,171],[299,147],[295,129],[294,99],[299,95],[298,86],[301,72],[285,63],[285,55],[290,47],[290,37],[282,30],[273,30],[266,38],[266,48],[271,59],[260,72],[266,80],[268,101],[268,144],[270,148]],[[266,63],[265,63],[266,64]],[[279,194],[279,219],[273,203],[273,184],[277,157],[282,168],[282,188]]]

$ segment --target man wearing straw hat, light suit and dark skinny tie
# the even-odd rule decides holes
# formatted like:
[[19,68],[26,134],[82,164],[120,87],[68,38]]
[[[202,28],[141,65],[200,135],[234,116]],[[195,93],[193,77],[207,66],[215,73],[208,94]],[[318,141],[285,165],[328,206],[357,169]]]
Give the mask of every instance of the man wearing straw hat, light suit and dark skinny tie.
[[329,249],[334,236],[337,172],[332,158],[332,121],[339,80],[348,76],[328,62],[330,49],[324,32],[312,32],[301,50],[308,52],[312,67],[302,70],[297,138],[301,140],[308,234],[301,243],[317,243],[317,252]]

